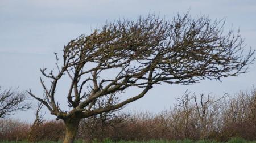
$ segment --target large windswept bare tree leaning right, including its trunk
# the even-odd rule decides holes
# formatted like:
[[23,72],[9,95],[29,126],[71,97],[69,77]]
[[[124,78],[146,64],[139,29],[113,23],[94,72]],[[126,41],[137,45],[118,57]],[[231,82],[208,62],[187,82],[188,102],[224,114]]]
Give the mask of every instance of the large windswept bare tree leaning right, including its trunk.
[[[212,21],[206,16],[193,19],[188,14],[174,16],[172,21],[148,15],[135,21],[106,23],[64,46],[61,66],[55,53],[56,70],[41,70],[51,80],[47,88],[40,78],[43,98],[31,90],[28,93],[64,121],[64,142],[73,142],[82,118],[136,101],[155,84],[189,85],[247,72],[254,50],[243,52],[246,46],[239,32],[226,33],[223,25],[222,20]],[[61,110],[55,101],[56,86],[64,76],[71,79],[67,93],[70,111]],[[129,88],[141,91],[117,103],[93,108],[99,98],[110,101],[111,94],[121,96]]]

